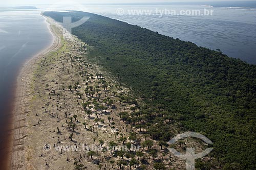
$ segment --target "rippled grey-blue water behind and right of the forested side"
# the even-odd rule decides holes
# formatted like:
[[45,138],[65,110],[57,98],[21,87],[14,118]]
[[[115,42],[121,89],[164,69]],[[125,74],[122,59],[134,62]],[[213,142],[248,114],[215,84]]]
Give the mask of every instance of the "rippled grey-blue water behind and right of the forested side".
[[[220,3],[208,5],[61,5],[39,6],[51,10],[79,10],[101,14],[138,25],[160,34],[191,41],[199,46],[220,49],[229,57],[240,58],[256,64],[256,2]],[[226,6],[226,7],[222,7]],[[237,8],[241,6],[242,8]],[[231,7],[231,8],[229,8]],[[251,8],[245,8],[251,7]],[[123,14],[118,15],[117,10]],[[212,16],[177,16],[177,15],[130,15],[129,10],[214,10]]]

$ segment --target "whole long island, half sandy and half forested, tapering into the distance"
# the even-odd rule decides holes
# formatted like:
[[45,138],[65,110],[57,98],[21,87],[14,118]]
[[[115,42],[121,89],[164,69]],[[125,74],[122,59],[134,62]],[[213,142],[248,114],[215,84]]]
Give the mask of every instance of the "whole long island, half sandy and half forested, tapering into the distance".
[[[55,41],[18,78],[13,169],[255,169],[256,66],[97,14],[45,12]],[[60,23],[76,22],[70,34]],[[17,121],[19,120],[19,121]],[[199,132],[213,144],[186,138]]]

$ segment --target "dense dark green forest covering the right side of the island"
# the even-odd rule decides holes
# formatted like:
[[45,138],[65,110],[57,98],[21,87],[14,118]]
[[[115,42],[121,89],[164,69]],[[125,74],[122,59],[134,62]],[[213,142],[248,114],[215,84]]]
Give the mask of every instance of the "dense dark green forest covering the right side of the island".
[[123,115],[126,122],[162,141],[176,135],[175,126],[204,134],[214,142],[211,155],[218,164],[199,162],[199,169],[256,169],[255,65],[96,14],[44,15],[59,22],[63,16],[90,16],[72,33],[92,46],[91,60],[151,106],[135,113],[140,120]]

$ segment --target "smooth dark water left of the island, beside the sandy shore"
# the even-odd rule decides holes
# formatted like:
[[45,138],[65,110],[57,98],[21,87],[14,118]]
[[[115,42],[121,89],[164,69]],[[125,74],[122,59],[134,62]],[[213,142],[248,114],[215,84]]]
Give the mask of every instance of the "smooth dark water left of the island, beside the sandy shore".
[[0,169],[5,169],[11,147],[11,113],[19,70],[52,40],[40,11],[0,8]]

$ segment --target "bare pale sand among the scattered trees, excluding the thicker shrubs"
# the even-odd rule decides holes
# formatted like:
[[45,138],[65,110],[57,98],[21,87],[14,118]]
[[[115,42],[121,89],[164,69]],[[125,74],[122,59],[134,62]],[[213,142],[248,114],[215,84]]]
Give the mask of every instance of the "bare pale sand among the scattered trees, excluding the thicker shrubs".
[[[115,96],[117,93],[125,94],[128,90],[117,89],[114,86],[117,82],[109,78],[104,71],[100,71],[96,65],[82,63],[79,58],[76,59],[87,53],[81,51],[80,45],[84,43],[65,30],[65,34],[62,34],[61,26],[52,19],[48,18],[48,22],[51,23],[50,28],[55,38],[53,45],[29,61],[18,78],[11,166],[12,169],[20,170],[73,169],[74,162],[77,159],[81,161],[83,157],[84,165],[88,169],[95,169],[98,165],[92,163],[94,160],[88,159],[82,145],[87,144],[91,147],[91,144],[96,144],[98,146],[100,139],[104,141],[104,146],[112,140],[119,143],[115,132],[129,136],[128,128],[131,128],[125,126],[124,122],[120,122],[118,113],[131,112],[131,105],[120,104],[119,97]],[[61,40],[62,35],[63,40]],[[84,68],[80,69],[80,67]],[[84,73],[84,76],[78,75],[79,70],[86,69],[87,73]],[[99,72],[102,74],[97,76]],[[103,83],[106,81],[108,85],[103,88]],[[76,82],[80,82],[77,89],[69,90],[68,85],[73,86]],[[46,84],[49,84],[49,89],[46,89]],[[98,92],[84,94],[83,88],[88,86],[95,89],[97,85]],[[61,95],[54,95],[55,90]],[[83,98],[77,97],[78,92],[84,95]],[[101,98],[102,106],[108,105],[103,109],[104,111],[95,109],[92,104],[92,99],[96,100],[97,97]],[[105,99],[104,102],[103,99]],[[115,105],[109,105],[110,101],[113,101]],[[83,102],[90,103],[87,108],[91,108],[91,115],[84,113],[81,106]],[[56,105],[59,105],[59,108],[56,108]],[[64,112],[68,112],[68,118],[65,117]],[[77,122],[74,123],[77,127],[75,130],[70,130],[72,128],[68,128],[67,122],[70,122],[70,118],[74,115],[77,115]],[[108,115],[111,116],[111,120],[108,120]],[[95,122],[96,117],[99,117],[98,122]],[[86,122],[87,128],[84,128],[83,122]],[[115,123],[113,124],[115,128],[111,128],[111,122]],[[60,133],[56,132],[57,127]],[[69,139],[71,134],[73,134],[73,140]],[[44,150],[45,144],[49,144],[51,150]],[[55,150],[55,144],[78,145],[80,152],[63,151],[62,153],[62,151]],[[102,154],[110,155],[110,152],[98,155],[106,166],[107,161],[103,160]]]

